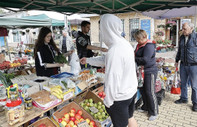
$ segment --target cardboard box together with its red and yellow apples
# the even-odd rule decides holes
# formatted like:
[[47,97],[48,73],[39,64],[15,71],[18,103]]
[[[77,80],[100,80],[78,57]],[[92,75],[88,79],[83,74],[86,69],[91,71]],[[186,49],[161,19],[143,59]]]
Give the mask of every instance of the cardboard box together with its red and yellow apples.
[[[78,114],[80,114],[80,116]],[[56,122],[59,123],[60,127],[65,127],[65,125],[73,124],[73,123],[75,125],[77,123],[80,125],[80,123],[82,124],[83,122],[86,122],[86,121],[89,124],[93,122],[96,127],[99,127],[99,123],[94,122],[94,119],[91,117],[91,115],[89,115],[84,109],[82,109],[75,102],[71,102],[68,105],[64,106],[63,108],[57,110],[56,112],[53,113],[52,117]]]

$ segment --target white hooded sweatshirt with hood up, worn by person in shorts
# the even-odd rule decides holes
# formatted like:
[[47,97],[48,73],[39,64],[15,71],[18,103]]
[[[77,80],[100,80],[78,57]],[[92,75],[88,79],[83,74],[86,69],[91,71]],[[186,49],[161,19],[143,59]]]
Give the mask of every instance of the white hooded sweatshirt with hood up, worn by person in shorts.
[[87,58],[87,63],[105,65],[104,104],[110,107],[114,101],[132,98],[137,92],[138,82],[134,50],[121,36],[121,20],[112,14],[105,14],[100,21],[101,41],[108,47],[108,52],[103,57]]

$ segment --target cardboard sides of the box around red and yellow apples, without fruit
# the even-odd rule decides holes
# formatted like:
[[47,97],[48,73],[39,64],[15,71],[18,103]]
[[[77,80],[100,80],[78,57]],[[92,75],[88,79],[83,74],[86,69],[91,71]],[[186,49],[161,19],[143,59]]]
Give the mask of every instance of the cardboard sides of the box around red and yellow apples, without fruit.
[[[70,112],[70,110],[72,108],[75,108],[76,111],[79,110],[79,109],[82,110],[82,112],[83,112],[82,117],[84,119],[89,118],[90,120],[94,120],[91,115],[89,115],[83,108],[81,108],[75,102],[71,102],[68,105],[64,106],[63,108],[61,108],[61,109],[57,110],[56,112],[54,112],[53,115],[52,115],[53,119],[58,123],[58,119],[62,118],[65,113]],[[61,123],[59,123],[59,125],[61,126]],[[99,127],[99,123],[96,122],[96,125]]]

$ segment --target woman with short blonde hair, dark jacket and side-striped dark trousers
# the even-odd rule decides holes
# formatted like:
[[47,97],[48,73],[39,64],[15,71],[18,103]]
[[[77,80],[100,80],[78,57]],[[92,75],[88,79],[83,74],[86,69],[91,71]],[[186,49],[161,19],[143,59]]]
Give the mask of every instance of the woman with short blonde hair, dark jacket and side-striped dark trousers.
[[135,49],[135,61],[137,66],[144,67],[144,83],[140,87],[143,100],[141,111],[148,111],[149,120],[152,121],[158,115],[158,104],[155,95],[155,81],[157,77],[155,44],[147,39],[147,34],[144,30],[136,31],[134,37],[138,42]]

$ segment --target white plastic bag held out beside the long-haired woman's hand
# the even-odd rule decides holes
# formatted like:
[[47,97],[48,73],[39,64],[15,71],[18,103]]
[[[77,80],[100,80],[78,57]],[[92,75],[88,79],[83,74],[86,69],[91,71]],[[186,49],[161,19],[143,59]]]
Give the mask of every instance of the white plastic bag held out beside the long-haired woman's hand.
[[77,54],[75,52],[73,52],[71,54],[71,60],[69,65],[71,66],[71,70],[70,73],[73,73],[74,75],[78,75],[79,72],[81,71],[81,66],[79,63],[79,57],[77,56]]

